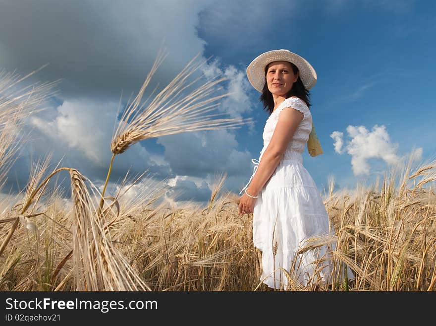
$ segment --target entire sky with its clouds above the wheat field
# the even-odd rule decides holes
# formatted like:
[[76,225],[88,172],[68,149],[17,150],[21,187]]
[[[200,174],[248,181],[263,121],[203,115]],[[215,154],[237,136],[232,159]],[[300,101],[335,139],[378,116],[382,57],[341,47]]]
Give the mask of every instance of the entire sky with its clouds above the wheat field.
[[35,141],[23,147],[7,189],[25,183],[30,153],[41,149],[101,184],[121,90],[138,90],[163,39],[170,54],[160,82],[198,52],[212,56],[211,71],[229,76],[238,92],[224,111],[256,123],[143,141],[117,158],[113,182],[128,168],[150,167],[184,192],[178,199],[201,201],[214,175],[227,172],[225,187],[239,192],[268,118],[245,68],[273,49],[303,56],[318,74],[311,111],[324,154],[306,149],[303,160],[320,191],[330,174],[338,188],[353,188],[414,149],[417,162],[434,157],[434,1],[99,1],[0,4],[0,67],[26,73],[50,62],[38,78],[64,78],[51,109],[29,121]]

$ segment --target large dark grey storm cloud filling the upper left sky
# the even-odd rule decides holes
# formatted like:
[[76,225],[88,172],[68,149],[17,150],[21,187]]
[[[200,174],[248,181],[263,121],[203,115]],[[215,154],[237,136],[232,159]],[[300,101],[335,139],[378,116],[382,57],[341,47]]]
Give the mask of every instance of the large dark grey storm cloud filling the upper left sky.
[[[156,76],[162,84],[202,53],[198,13],[206,0],[2,1],[0,58],[7,70],[64,78],[62,97],[117,98],[139,89],[157,55],[168,56]],[[19,23],[17,23],[19,22]]]

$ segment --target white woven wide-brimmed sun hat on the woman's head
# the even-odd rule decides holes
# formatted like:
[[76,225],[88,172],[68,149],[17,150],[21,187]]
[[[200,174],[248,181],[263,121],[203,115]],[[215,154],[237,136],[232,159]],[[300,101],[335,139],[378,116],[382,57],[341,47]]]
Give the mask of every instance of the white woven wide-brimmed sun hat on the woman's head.
[[317,73],[306,59],[289,50],[272,50],[261,54],[247,67],[248,80],[261,93],[265,85],[265,67],[274,61],[287,61],[296,65],[306,89],[311,89],[317,82]]

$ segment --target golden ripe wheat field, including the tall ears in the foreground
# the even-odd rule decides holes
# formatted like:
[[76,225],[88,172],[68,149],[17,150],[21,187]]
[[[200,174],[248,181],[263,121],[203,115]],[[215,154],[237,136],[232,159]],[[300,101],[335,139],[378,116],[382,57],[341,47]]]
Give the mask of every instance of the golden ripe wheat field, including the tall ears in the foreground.
[[[220,82],[215,80],[180,100],[187,71],[192,69],[182,71],[142,105],[142,94],[159,63],[108,144],[113,156],[103,192],[74,167],[53,168],[48,156],[34,163],[24,192],[0,201],[1,291],[272,290],[259,279],[261,253],[253,247],[252,215],[238,216],[238,196],[222,190],[225,172],[216,177],[206,205],[174,205],[164,200],[164,182],[138,196],[124,196],[146,173],[125,178],[119,185],[124,192],[105,196],[112,161],[131,144],[165,134],[247,123],[215,120],[212,115],[198,120],[222,96],[211,100],[212,89]],[[23,78],[6,73],[0,78],[3,185],[19,144],[25,141],[16,130],[37,111],[38,104],[53,95],[55,83],[11,91]],[[59,174],[69,177],[70,198],[48,186]],[[322,194],[336,231],[332,263],[338,268],[345,263],[356,279],[328,285],[314,281],[303,287],[293,281],[291,270],[287,290],[435,290],[436,160],[417,165],[411,156],[386,170],[381,179],[369,187],[336,191],[331,178],[327,194]],[[325,241],[310,239],[300,253]]]

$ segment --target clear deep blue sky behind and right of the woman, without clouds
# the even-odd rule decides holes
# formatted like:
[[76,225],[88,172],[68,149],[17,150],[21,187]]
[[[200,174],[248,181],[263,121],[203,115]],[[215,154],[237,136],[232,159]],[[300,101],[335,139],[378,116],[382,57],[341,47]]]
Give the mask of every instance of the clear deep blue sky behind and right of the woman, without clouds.
[[[431,71],[436,68],[434,2],[312,1],[307,6],[300,2],[294,9],[283,8],[265,18],[268,28],[260,24],[253,31],[248,18],[250,28],[235,28],[229,41],[218,31],[229,22],[234,25],[227,26],[242,26],[236,17],[213,31],[200,30],[199,35],[209,41],[206,56],[234,62],[240,69],[258,54],[281,48],[302,55],[315,67],[318,82],[312,89],[311,110],[325,153],[313,158],[305,151],[304,162],[317,185],[325,184],[326,175],[333,173],[339,185],[351,187],[355,179],[374,180],[387,166],[381,158],[370,157],[371,173],[353,174],[350,155],[335,152],[329,136],[336,130],[346,134],[349,125],[368,130],[386,126],[391,142],[398,143],[398,156],[413,146],[422,147],[423,157],[435,153],[436,111],[430,95],[435,86]],[[231,46],[237,40],[244,44],[247,38],[255,38],[255,43]],[[260,112],[258,93],[250,94]],[[254,135],[251,152],[259,148],[260,137]]]

